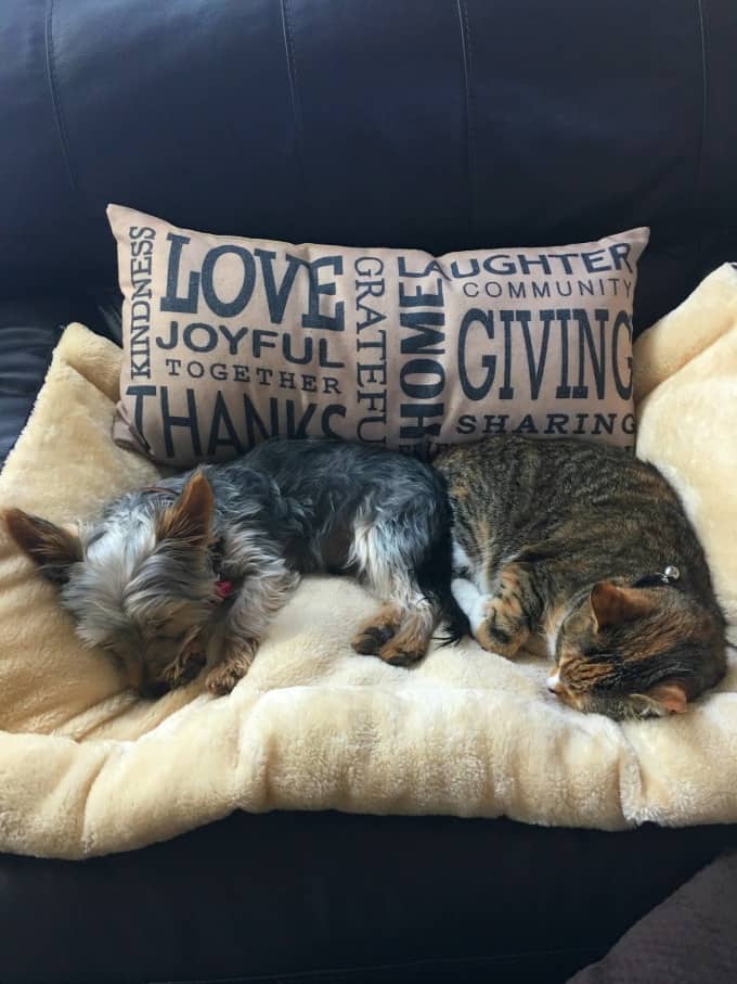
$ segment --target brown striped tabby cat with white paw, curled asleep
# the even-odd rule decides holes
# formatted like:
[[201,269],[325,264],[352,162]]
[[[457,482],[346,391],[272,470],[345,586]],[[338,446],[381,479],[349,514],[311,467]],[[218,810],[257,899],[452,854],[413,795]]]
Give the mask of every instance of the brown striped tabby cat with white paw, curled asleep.
[[548,688],[615,719],[662,716],[724,675],[724,617],[696,534],[651,465],[583,440],[490,437],[435,467],[453,595],[487,650],[555,660]]

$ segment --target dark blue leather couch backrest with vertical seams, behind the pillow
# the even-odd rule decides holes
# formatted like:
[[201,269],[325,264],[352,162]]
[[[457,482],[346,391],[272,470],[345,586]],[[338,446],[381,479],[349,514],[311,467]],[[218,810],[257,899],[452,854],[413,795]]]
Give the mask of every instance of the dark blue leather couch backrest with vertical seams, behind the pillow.
[[104,207],[454,248],[652,228],[642,328],[737,257],[734,0],[3,0],[0,297],[115,281]]

